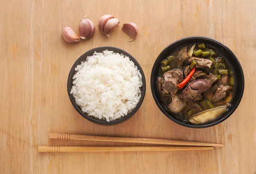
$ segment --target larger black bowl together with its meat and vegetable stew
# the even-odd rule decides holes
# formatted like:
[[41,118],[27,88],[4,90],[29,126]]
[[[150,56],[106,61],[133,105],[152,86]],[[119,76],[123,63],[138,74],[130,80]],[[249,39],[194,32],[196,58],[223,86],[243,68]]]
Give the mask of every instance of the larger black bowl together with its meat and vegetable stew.
[[[200,36],[182,38],[157,57],[151,71],[151,92],[172,121],[189,128],[208,128],[223,122],[239,106],[244,73],[236,55],[221,42]],[[204,119],[225,106],[224,113]]]

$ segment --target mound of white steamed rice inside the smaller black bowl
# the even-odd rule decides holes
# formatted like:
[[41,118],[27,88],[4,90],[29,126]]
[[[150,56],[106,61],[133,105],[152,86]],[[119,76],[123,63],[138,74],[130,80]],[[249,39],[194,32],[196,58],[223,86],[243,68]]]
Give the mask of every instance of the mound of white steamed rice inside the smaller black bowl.
[[129,57],[108,50],[95,52],[75,70],[70,93],[89,116],[109,122],[137,106],[142,76]]

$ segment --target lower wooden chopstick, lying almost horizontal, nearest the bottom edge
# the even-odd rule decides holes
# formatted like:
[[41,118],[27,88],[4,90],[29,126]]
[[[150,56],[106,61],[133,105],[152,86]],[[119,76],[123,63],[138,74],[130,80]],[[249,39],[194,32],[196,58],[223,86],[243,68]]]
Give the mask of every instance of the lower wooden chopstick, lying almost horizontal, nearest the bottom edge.
[[131,151],[195,151],[212,150],[213,147],[59,147],[39,146],[38,152],[131,152]]

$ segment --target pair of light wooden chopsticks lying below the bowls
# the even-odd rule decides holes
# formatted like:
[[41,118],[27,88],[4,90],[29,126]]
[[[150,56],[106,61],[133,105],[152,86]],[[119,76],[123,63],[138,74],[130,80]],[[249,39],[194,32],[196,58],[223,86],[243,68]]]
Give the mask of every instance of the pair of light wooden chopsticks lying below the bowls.
[[[149,139],[132,137],[109,137],[109,136],[89,136],[49,133],[49,139],[69,139],[85,141],[104,141],[104,142],[131,142],[158,145],[183,145],[177,147],[168,146],[128,146],[128,147],[59,147],[59,146],[39,146],[38,152],[127,152],[127,151],[193,151],[193,150],[212,150],[213,147],[223,147],[221,144],[205,142],[189,142],[171,139]],[[204,146],[204,147],[200,147]]]

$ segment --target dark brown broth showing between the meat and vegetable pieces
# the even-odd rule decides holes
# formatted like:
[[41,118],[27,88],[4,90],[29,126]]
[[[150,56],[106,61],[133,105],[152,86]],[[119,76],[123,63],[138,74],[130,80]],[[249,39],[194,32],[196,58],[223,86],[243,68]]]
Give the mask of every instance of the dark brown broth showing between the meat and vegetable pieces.
[[[197,46],[198,43],[195,43],[195,44],[196,44],[195,50],[198,50],[198,46]],[[192,45],[192,44],[191,44],[191,45]],[[180,50],[180,48],[182,48],[182,47],[184,47],[184,46],[187,46],[188,49],[189,49],[189,46],[191,46],[191,45],[188,44],[188,45],[180,46],[179,48],[175,49],[175,51],[171,52],[170,55],[175,55],[175,56],[177,56],[178,51]],[[206,45],[206,48],[207,48],[207,47],[208,47],[208,49],[209,49],[209,48],[212,48],[212,49],[215,50],[215,52],[218,53],[218,56],[215,57],[216,60],[218,60],[218,58],[223,58],[223,59],[224,59],[224,64],[226,65],[226,69],[227,69],[227,70],[231,70],[231,71],[233,72],[232,77],[233,77],[233,79],[234,79],[234,81],[235,81],[235,84],[232,85],[233,90],[231,90],[230,92],[227,93],[227,97],[226,97],[225,99],[221,100],[221,101],[212,102],[212,104],[213,104],[214,107],[223,106],[223,105],[226,105],[227,103],[229,103],[229,104],[231,105],[232,102],[233,102],[233,95],[236,93],[236,90],[237,90],[236,71],[234,70],[233,65],[232,65],[232,64],[230,63],[230,61],[226,58],[226,56],[223,55],[218,49],[216,49],[216,48],[214,48],[214,47],[212,47],[212,46],[210,46],[210,45],[207,45],[207,44],[205,44],[205,45]],[[201,49],[201,50],[202,50],[202,51],[205,51],[206,49]],[[169,56],[170,56],[170,55],[169,55]],[[196,56],[196,57],[202,58],[201,56]],[[207,56],[207,57],[204,57],[204,58],[209,59],[210,56]],[[183,72],[184,68],[187,67],[188,65],[189,65],[189,64],[183,63],[183,65],[182,65],[182,67],[181,67],[180,70]],[[177,68],[178,68],[176,61],[171,61],[171,62],[169,62],[169,66],[171,67],[170,70],[174,70],[174,69],[177,69]],[[197,68],[197,70],[198,70],[198,68]],[[208,74],[209,74],[209,73],[212,73],[212,74],[214,73],[214,68],[213,68],[213,66],[211,66],[210,68],[206,68],[206,69],[204,69],[204,70],[206,70],[206,71],[208,72]],[[204,71],[203,71],[203,72],[204,72]],[[160,70],[159,70],[158,77],[163,77],[163,72],[162,72],[161,68],[160,68]],[[230,74],[229,74],[229,75],[228,75],[228,79],[229,79],[228,81],[230,81],[230,77],[231,77],[231,76],[230,76]],[[212,87],[211,87],[209,90],[207,90],[205,93],[202,93],[202,96],[203,96],[203,99],[202,99],[202,100],[196,101],[196,102],[193,102],[193,103],[197,103],[197,104],[199,104],[199,105],[202,107],[202,105],[200,104],[200,102],[205,101],[205,100],[207,100],[207,99],[211,100],[211,99],[212,99],[212,96],[213,96],[213,95],[215,94],[215,92],[216,92],[216,89],[217,89],[216,87],[218,87],[218,86],[216,86],[216,85],[218,84],[219,81],[221,81],[221,79],[218,80],[216,83],[212,84]],[[220,83],[220,82],[219,82],[219,83]],[[185,86],[185,87],[186,87],[186,86]],[[184,87],[184,88],[185,88],[185,87]],[[183,88],[183,89],[184,89],[184,88]],[[178,91],[177,94],[180,94],[180,92],[181,92],[181,91]],[[169,110],[169,109],[168,109],[168,105],[169,105],[169,103],[170,103],[170,97],[169,97],[169,96],[163,96],[163,95],[160,94],[160,92],[159,92],[158,94],[162,97],[162,100],[163,100],[163,103],[164,103],[166,109]],[[203,108],[203,107],[202,107],[202,108]],[[178,119],[181,119],[181,120],[183,120],[183,121],[185,121],[185,122],[189,122],[189,121],[188,121],[188,118],[186,118],[186,116],[185,116],[185,115],[186,115],[186,112],[187,112],[189,109],[190,109],[189,107],[186,107],[186,108],[185,108],[183,111],[181,111],[180,113],[178,113],[178,114],[173,113],[173,114],[174,114]],[[209,109],[209,108],[208,108],[208,109]],[[203,108],[203,110],[201,110],[201,111],[196,110],[195,113],[193,113],[193,114],[202,112],[202,111],[204,111],[204,110],[207,110],[207,109],[204,109],[204,108]]]

